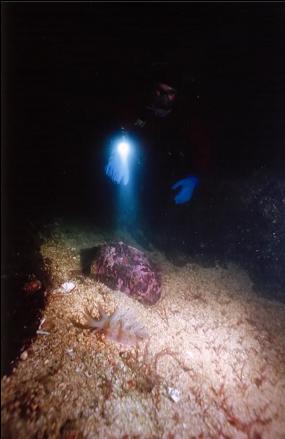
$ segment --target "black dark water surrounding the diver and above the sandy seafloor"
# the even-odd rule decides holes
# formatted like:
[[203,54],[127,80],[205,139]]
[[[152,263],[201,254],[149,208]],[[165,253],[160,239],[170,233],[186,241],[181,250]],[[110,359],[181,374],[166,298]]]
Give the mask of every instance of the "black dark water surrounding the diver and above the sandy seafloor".
[[236,262],[259,293],[285,300],[284,29],[282,3],[2,4],[2,333],[41,306],[25,305],[20,286],[43,276],[45,223],[112,226],[104,141],[162,61],[199,83],[215,172],[188,205],[146,206],[142,246],[177,264],[181,252]]

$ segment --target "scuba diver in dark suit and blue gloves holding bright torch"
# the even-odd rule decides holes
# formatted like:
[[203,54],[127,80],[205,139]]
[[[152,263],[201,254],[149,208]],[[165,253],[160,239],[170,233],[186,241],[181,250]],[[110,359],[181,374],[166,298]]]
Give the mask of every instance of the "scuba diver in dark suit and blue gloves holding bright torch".
[[[143,90],[140,113],[128,111],[138,107],[131,102],[127,114],[121,114],[122,142],[109,150],[105,174],[121,188],[120,194],[125,196],[125,203],[121,203],[124,217],[135,227],[138,217],[146,216],[135,205],[147,206],[147,214],[156,218],[152,225],[161,224],[161,216],[164,220],[167,216],[172,218],[177,215],[177,208],[181,210],[181,206],[191,203],[210,173],[211,136],[197,84],[191,78],[190,86],[185,87],[177,81],[176,72],[160,70]],[[128,140],[139,145],[132,163],[126,157]],[[127,189],[134,186],[136,194],[130,198]]]

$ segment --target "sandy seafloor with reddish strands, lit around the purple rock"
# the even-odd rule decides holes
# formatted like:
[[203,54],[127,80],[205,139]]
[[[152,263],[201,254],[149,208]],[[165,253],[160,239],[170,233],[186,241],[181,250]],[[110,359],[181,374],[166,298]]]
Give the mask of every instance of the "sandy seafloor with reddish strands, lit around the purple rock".
[[[144,306],[78,273],[80,251],[111,239],[136,244],[61,222],[44,237],[52,287],[42,332],[2,379],[2,437],[285,438],[285,305],[234,265],[178,267],[153,248],[162,296]],[[99,305],[129,310],[147,338],[130,348],[74,324]]]

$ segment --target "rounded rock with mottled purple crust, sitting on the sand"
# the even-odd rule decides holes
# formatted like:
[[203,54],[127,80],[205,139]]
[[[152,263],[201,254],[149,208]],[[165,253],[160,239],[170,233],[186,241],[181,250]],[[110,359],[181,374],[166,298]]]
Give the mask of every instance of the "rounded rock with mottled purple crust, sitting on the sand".
[[118,289],[144,304],[160,298],[161,281],[146,255],[123,242],[103,245],[91,264],[91,274],[112,289]]

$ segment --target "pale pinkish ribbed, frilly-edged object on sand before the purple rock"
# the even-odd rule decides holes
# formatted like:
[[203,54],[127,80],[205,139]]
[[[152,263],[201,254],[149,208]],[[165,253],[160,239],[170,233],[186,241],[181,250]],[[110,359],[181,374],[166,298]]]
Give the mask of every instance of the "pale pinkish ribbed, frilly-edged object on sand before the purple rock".
[[84,324],[79,326],[101,332],[107,339],[127,346],[134,346],[147,336],[144,327],[131,314],[118,308],[111,315],[107,315],[102,308],[99,308],[99,312],[100,319],[94,319],[90,312],[85,312]]

